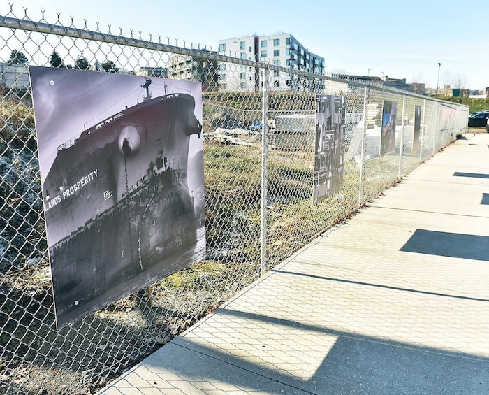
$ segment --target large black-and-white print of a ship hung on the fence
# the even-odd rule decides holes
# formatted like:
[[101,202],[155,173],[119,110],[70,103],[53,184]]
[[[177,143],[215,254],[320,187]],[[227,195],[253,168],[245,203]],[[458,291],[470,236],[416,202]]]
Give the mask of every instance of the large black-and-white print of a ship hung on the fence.
[[201,87],[29,73],[61,327],[203,259]]

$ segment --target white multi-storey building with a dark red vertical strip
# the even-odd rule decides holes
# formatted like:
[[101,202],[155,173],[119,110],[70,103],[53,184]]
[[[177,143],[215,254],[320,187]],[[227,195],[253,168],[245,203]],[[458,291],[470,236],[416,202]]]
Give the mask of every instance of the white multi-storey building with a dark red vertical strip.
[[[309,52],[289,33],[269,36],[245,36],[219,40],[219,55],[231,55],[254,62],[268,62],[275,66],[324,74],[324,58]],[[219,89],[254,91],[261,88],[260,70],[219,62]],[[270,73],[270,89],[308,89],[310,78],[301,78],[282,71]]]

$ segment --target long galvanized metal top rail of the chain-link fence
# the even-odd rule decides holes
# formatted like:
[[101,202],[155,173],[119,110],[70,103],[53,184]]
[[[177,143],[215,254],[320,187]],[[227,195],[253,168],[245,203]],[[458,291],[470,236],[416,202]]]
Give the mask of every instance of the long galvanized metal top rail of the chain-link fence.
[[[73,19],[73,18],[72,18]],[[58,18],[59,21],[59,18]],[[86,26],[86,21],[85,21]],[[8,29],[21,29],[24,31],[34,31],[41,34],[54,34],[55,36],[66,36],[71,38],[81,38],[89,41],[99,41],[103,43],[111,43],[117,45],[126,45],[134,48],[145,48],[147,50],[156,50],[161,52],[170,52],[177,55],[187,55],[191,57],[205,57],[206,59],[214,60],[217,62],[228,62],[233,64],[242,64],[245,66],[251,66],[259,69],[269,69],[273,71],[282,71],[284,73],[294,74],[295,76],[302,76],[306,78],[312,78],[316,80],[326,80],[330,82],[346,83],[350,86],[369,88],[381,92],[389,92],[391,94],[402,94],[405,96],[411,96],[418,99],[428,99],[430,101],[439,101],[445,103],[445,101],[440,99],[435,99],[430,96],[423,96],[421,94],[416,94],[414,92],[404,91],[402,89],[397,89],[394,87],[379,87],[374,85],[372,82],[356,80],[353,78],[333,78],[330,76],[323,76],[321,74],[310,73],[308,71],[301,71],[296,69],[290,69],[284,66],[276,66],[275,64],[270,64],[268,62],[256,62],[247,59],[240,59],[238,57],[232,57],[228,55],[219,55],[219,53],[207,50],[207,45],[204,48],[184,48],[178,45],[170,45],[170,38],[168,38],[168,43],[161,42],[161,36],[158,36],[159,41],[152,41],[152,35],[149,35],[149,41],[143,40],[143,38],[126,37],[122,35],[122,27],[119,27],[120,34],[112,34],[110,31],[108,33],[103,33],[101,31],[92,31],[88,29],[77,29],[75,27],[65,27],[61,24],[48,24],[45,22],[35,22],[29,19],[19,19],[17,17],[7,17],[0,15],[0,27],[5,27]],[[193,44],[192,44],[193,45]],[[212,48],[212,47],[211,47]],[[460,103],[453,103],[454,106],[467,107]]]

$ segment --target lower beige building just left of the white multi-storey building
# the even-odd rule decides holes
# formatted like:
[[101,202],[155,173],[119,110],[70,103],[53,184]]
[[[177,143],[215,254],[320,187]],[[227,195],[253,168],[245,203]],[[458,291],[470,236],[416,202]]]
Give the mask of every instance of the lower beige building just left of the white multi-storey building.
[[[207,50],[201,50],[203,55]],[[215,53],[215,52],[214,52]],[[170,57],[168,78],[202,82],[203,92],[217,89],[217,62],[190,55],[175,55]]]

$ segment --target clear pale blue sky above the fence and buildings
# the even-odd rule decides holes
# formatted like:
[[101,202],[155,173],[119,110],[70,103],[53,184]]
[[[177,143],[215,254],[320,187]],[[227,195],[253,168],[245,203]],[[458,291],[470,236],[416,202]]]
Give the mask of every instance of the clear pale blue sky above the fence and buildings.
[[[133,29],[214,50],[220,38],[285,32],[324,57],[327,73],[384,73],[436,87],[440,69],[440,86],[460,78],[469,89],[489,86],[487,0],[13,0],[17,15],[23,7],[33,20],[42,9],[50,23],[59,13],[65,25],[72,16],[75,27],[100,22],[101,31],[111,24],[126,36]],[[3,1],[0,15],[9,10]]]

